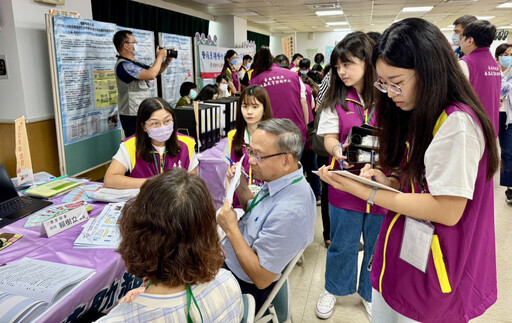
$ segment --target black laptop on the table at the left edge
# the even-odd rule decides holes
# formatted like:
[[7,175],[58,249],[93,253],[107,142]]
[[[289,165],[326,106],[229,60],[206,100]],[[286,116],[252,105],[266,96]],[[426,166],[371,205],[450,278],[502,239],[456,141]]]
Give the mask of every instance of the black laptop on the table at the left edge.
[[53,203],[46,200],[18,196],[7,170],[0,164],[0,228],[51,204]]

